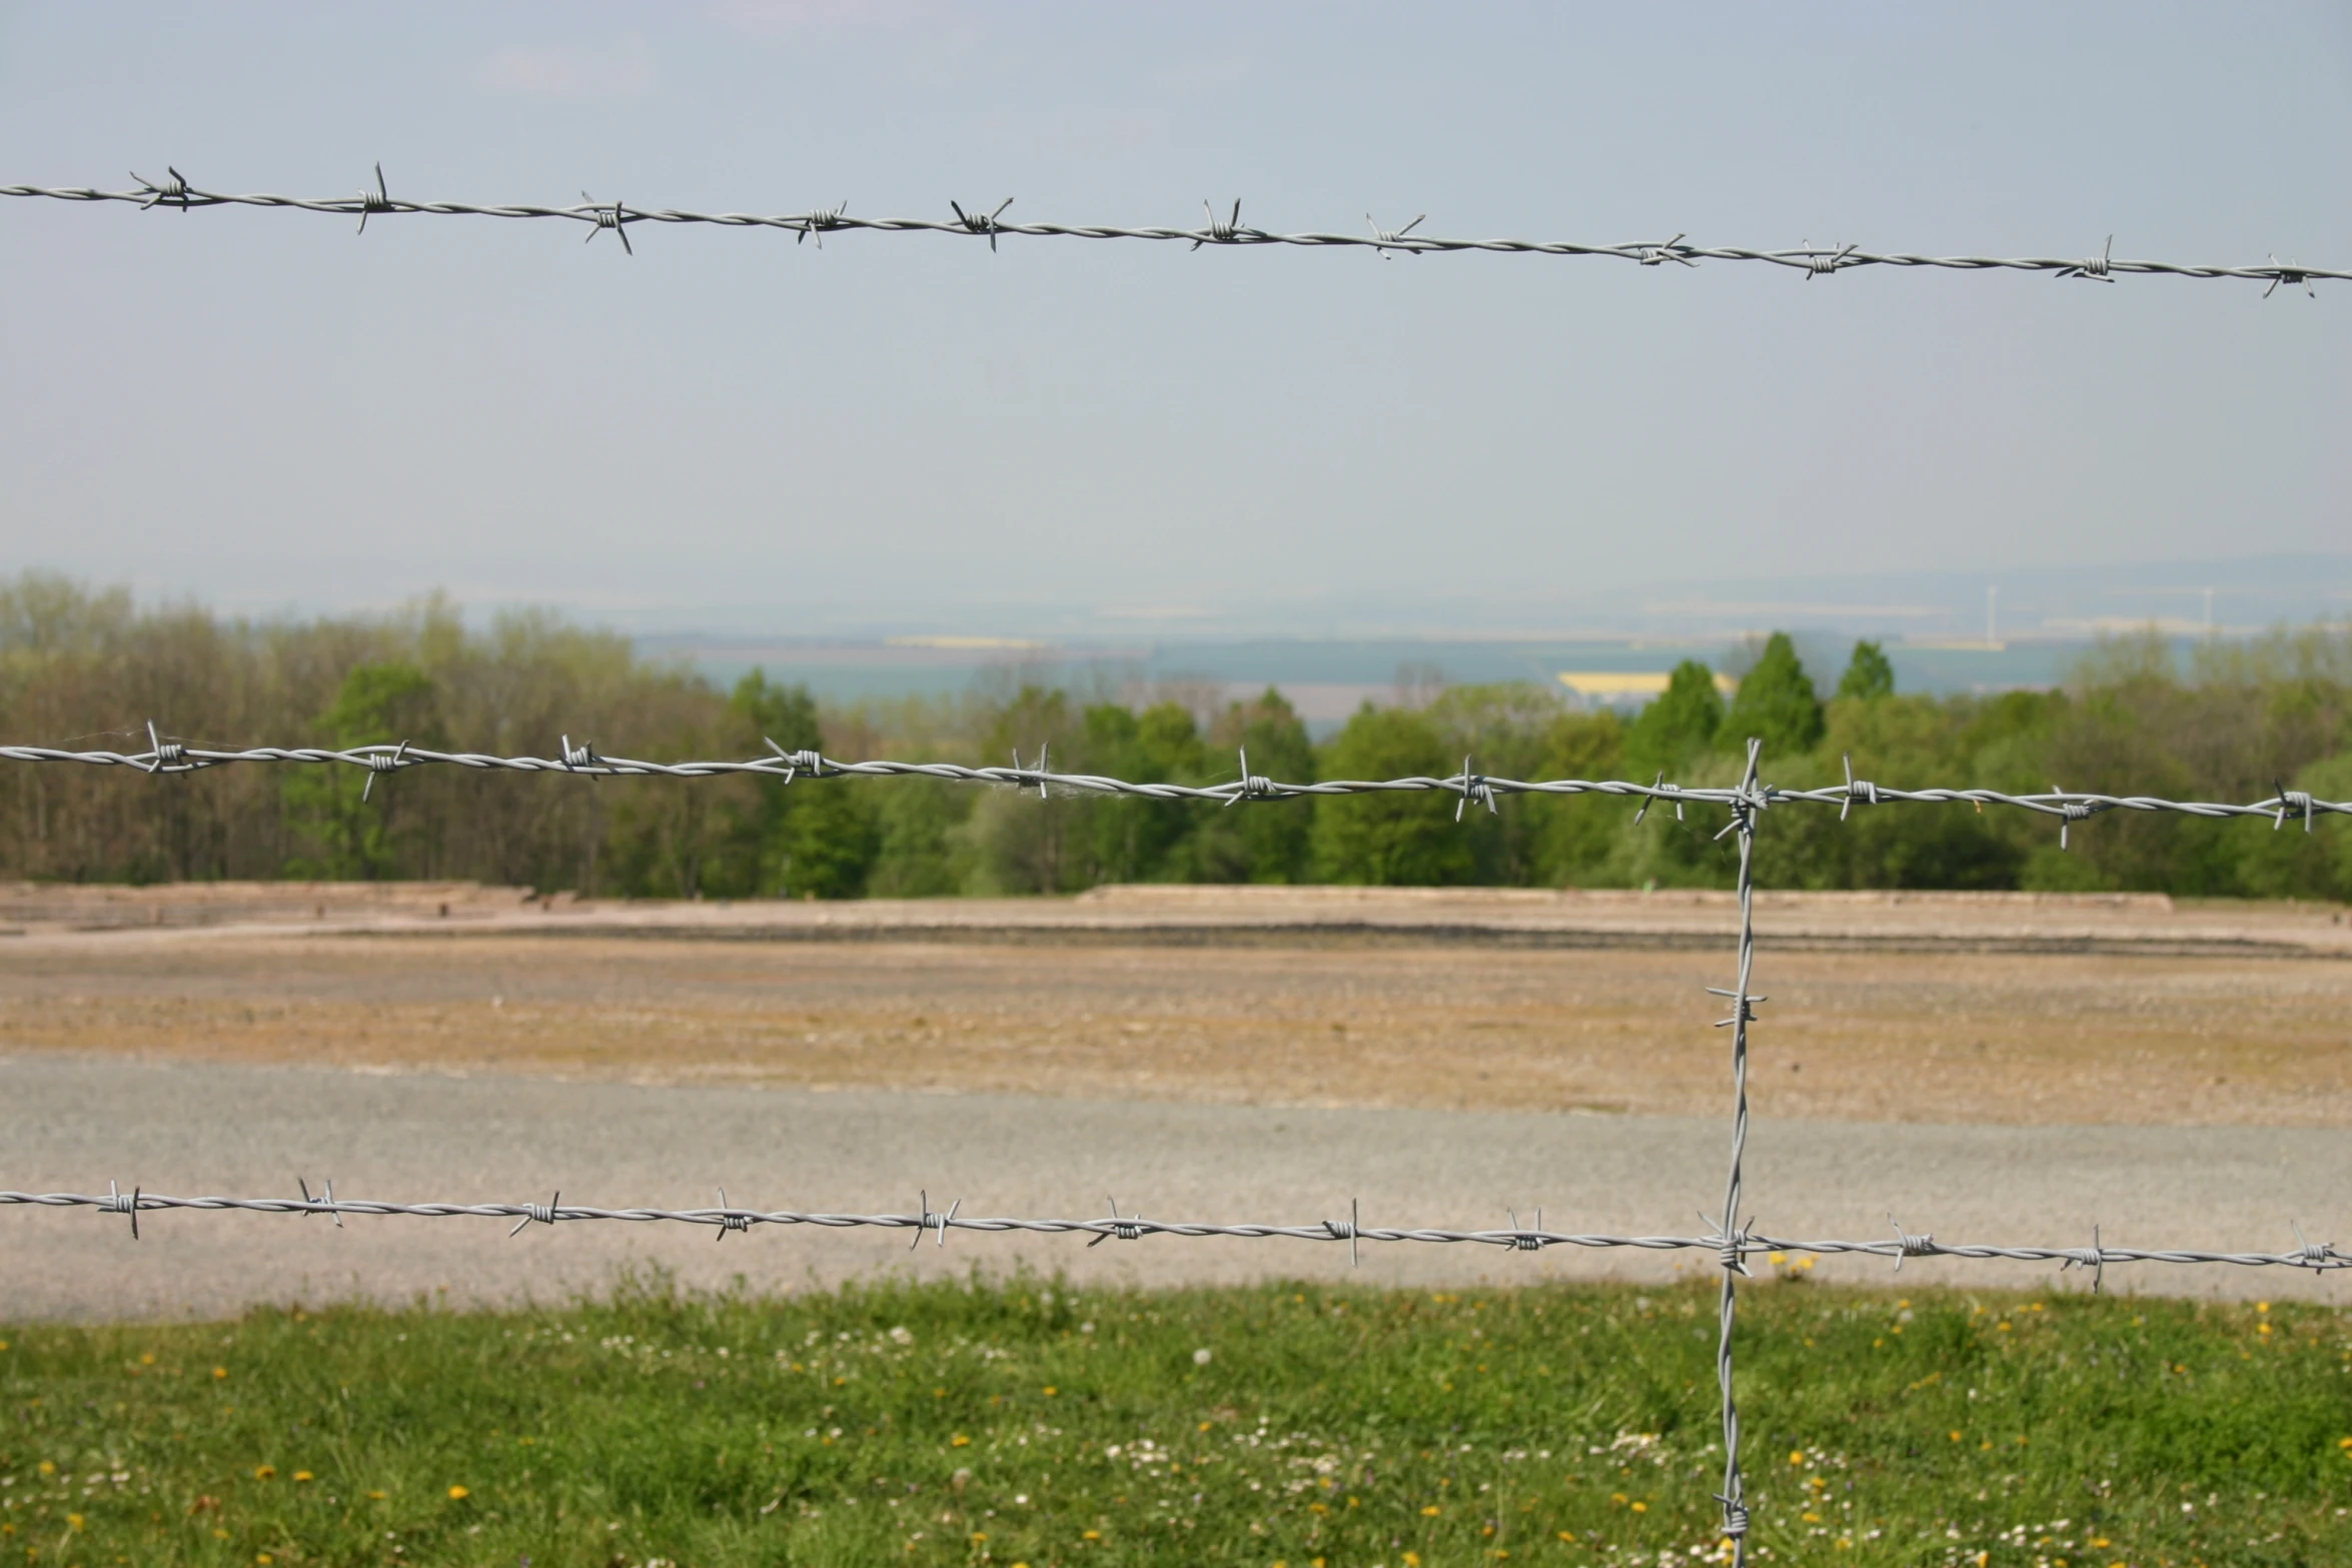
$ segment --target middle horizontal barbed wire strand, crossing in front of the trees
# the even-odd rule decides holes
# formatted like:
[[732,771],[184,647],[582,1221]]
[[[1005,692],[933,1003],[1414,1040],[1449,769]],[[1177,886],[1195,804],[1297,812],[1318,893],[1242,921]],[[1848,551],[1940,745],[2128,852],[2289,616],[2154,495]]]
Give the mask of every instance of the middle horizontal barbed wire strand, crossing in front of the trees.
[[78,762],[89,766],[125,766],[141,773],[181,776],[238,762],[292,762],[355,766],[369,773],[402,773],[416,766],[461,766],[508,773],[574,773],[583,778],[717,778],[729,773],[753,773],[760,778],[948,778],[955,783],[1011,785],[1021,790],[1065,790],[1080,795],[1127,795],[1138,799],[1197,799],[1235,804],[1244,799],[1296,799],[1312,795],[1390,795],[1390,792],[1442,792],[1456,795],[1463,804],[1491,804],[1505,795],[1616,795],[1644,802],[1693,804],[1693,806],[1755,806],[1757,811],[1778,804],[1837,806],[1842,813],[1853,806],[1884,804],[1976,804],[2016,806],[2042,816],[2077,823],[2103,811],[2178,811],[2183,816],[2232,818],[2258,816],[2272,825],[2298,820],[2310,825],[2317,816],[2352,816],[2352,802],[2317,799],[2307,790],[2279,790],[2258,802],[2204,802],[2166,799],[2159,795],[2103,795],[2096,790],[2049,790],[2042,795],[2011,795],[2004,790],[1955,790],[1919,788],[1900,790],[1849,778],[1846,783],[1820,785],[1816,790],[1785,790],[1766,783],[1738,785],[1675,785],[1663,778],[1635,783],[1628,778],[1498,778],[1491,773],[1461,771],[1444,778],[1331,778],[1324,783],[1282,783],[1244,773],[1230,783],[1178,785],[1136,783],[1105,773],[1056,773],[1025,766],[967,766],[960,762],[837,762],[818,752],[783,752],[774,757],[750,757],[743,762],[642,762],[635,757],[607,757],[593,745],[564,743],[562,757],[496,757],[489,752],[435,752],[416,745],[256,745],[245,750],[207,750],[176,741],[155,741],[143,752],[64,750],[52,745],[0,745],[0,762]]

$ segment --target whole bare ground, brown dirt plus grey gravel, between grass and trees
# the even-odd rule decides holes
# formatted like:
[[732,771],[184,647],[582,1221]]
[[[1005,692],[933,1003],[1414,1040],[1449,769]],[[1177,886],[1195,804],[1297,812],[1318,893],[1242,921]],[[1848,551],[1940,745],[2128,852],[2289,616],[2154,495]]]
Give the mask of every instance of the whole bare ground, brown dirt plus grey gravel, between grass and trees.
[[[445,891],[355,898],[339,926],[325,893],[280,889],[256,910],[214,889],[165,919],[125,905],[146,914],[0,943],[0,1187],[273,1194],[334,1178],[343,1197],[560,1187],[696,1206],[727,1185],[741,1204],[833,1211],[906,1211],[929,1187],[967,1213],[1082,1218],[1117,1194],[1162,1218],[1284,1222],[1355,1197],[1367,1222],[1543,1206],[1552,1227],[1675,1234],[1722,1201],[1726,1039],[1703,987],[1729,978],[1729,947],[1708,898],[1350,896],[1235,914],[1155,893],[997,924],[971,905],[767,907],[760,931],[673,905],[637,929],[590,910],[546,936],[572,917]],[[468,898],[506,912],[421,936],[466,924]],[[854,940],[818,929],[835,914]],[[1766,1229],[1867,1239],[1893,1211],[1945,1241],[2079,1246],[2098,1222],[2112,1244],[2284,1248],[2293,1220],[2352,1241],[2352,961],[2328,957],[2331,912],[1790,900],[1759,924],[1750,1199]],[[1780,940],[1792,931],[1818,940]],[[162,1215],[134,1246],[120,1218],[24,1208],[0,1211],[0,1319],[548,1298],[628,1262],[757,1286],[1016,1260],[1152,1284],[1345,1269],[1343,1248],[1284,1241],[955,1237],[906,1253],[858,1232],[713,1246],[567,1225],[506,1241],[473,1220]],[[1566,1248],[1364,1262],[1414,1284],[1675,1269]],[[2049,1274],[1915,1262],[1903,1279]],[[2129,1279],[2336,1293],[2211,1267]]]

